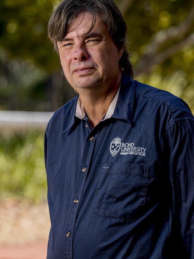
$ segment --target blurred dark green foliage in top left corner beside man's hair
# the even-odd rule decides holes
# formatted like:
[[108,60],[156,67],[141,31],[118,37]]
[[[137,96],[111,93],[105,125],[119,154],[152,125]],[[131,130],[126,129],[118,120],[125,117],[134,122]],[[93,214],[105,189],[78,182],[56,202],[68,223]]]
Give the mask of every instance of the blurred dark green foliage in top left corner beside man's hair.
[[47,39],[47,23],[57,1],[0,1],[0,45],[11,59],[27,59],[47,73],[59,68],[53,45]]

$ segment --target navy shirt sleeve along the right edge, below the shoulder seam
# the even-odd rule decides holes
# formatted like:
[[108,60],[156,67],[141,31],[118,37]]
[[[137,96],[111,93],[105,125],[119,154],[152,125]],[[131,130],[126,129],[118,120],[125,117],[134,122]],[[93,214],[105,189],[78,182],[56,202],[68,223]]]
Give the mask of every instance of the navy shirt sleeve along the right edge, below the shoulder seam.
[[175,258],[194,258],[194,119],[179,120],[163,143],[170,178]]

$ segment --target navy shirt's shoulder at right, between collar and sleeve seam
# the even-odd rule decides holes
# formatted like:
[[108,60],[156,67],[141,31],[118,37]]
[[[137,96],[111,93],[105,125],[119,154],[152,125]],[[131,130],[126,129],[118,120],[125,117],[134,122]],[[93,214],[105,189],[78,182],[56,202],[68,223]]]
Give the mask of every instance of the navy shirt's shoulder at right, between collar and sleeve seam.
[[163,107],[168,111],[173,119],[194,119],[193,114],[187,103],[181,98],[150,85],[134,81],[136,85],[136,94],[141,96],[141,100],[149,103],[152,107]]

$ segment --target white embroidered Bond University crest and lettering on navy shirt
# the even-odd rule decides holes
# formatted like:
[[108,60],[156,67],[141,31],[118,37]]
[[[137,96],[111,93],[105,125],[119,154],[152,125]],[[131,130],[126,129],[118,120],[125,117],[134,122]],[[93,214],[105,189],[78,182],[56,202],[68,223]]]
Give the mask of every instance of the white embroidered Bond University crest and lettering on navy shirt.
[[110,143],[110,154],[114,157],[120,149],[120,155],[137,155],[144,157],[146,155],[146,148],[135,146],[132,142],[121,143],[121,139],[117,137]]

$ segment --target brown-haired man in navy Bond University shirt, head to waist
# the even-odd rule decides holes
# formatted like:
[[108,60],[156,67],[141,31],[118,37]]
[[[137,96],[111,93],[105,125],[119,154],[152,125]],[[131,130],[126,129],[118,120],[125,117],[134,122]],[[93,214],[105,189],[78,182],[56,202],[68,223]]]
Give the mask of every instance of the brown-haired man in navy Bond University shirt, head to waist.
[[194,258],[194,117],[133,81],[112,0],[64,0],[48,33],[78,96],[51,118],[47,259]]

